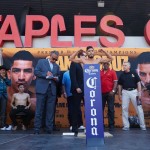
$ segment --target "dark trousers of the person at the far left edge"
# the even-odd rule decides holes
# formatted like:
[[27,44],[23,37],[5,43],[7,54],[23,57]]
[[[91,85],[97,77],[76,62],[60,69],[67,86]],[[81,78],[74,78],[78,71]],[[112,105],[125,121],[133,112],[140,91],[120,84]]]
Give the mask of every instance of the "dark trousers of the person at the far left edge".
[[7,107],[7,96],[5,94],[0,94],[1,127],[6,126],[6,107]]

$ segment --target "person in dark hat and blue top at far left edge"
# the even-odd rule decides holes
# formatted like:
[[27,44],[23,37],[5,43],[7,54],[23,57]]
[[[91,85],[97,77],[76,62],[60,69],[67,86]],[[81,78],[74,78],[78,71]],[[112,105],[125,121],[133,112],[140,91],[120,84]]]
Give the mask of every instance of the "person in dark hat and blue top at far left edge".
[[0,66],[0,117],[1,117],[1,130],[10,130],[11,126],[6,125],[6,106],[7,106],[7,86],[11,82],[6,76],[6,67]]

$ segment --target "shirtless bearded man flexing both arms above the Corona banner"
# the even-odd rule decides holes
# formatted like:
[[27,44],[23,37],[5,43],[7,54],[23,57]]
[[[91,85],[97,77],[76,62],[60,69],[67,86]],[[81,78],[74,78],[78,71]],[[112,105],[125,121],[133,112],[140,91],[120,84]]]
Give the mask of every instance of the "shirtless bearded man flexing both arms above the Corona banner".
[[83,52],[83,50],[80,49],[79,51],[74,52],[70,56],[69,60],[81,64],[99,64],[99,63],[110,62],[113,60],[112,56],[103,49],[100,49],[99,52],[103,52],[107,56],[107,58],[94,59],[95,54],[94,54],[94,48],[92,46],[87,46],[86,48],[87,58],[85,57],[75,58],[80,52]]

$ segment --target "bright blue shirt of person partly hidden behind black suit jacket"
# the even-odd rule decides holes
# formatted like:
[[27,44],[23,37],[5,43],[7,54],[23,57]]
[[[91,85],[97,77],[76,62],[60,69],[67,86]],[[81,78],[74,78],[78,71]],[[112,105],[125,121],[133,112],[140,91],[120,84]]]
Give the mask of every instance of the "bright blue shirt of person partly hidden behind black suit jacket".
[[71,80],[70,80],[69,70],[63,74],[62,85],[64,85],[65,87],[67,97],[72,96],[72,93],[70,92]]

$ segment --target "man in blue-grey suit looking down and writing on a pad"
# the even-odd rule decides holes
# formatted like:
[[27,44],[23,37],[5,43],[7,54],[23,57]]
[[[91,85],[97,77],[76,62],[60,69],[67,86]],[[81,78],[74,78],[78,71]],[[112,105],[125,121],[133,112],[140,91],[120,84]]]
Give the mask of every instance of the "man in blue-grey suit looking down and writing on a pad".
[[56,84],[59,81],[60,68],[56,64],[59,53],[52,51],[49,59],[40,59],[35,68],[36,79],[36,111],[34,121],[35,134],[39,134],[42,124],[42,114],[46,102],[46,131],[48,134],[53,130],[54,108],[56,100]]

